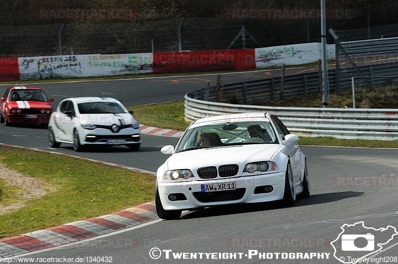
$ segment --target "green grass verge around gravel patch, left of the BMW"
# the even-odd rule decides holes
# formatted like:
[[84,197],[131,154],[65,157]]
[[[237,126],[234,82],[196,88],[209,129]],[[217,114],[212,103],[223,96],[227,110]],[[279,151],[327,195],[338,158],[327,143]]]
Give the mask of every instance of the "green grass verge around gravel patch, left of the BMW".
[[[155,176],[100,163],[0,146],[0,163],[55,188],[0,215],[0,238],[98,217],[154,199]],[[15,199],[15,187],[1,181],[0,204]],[[8,197],[8,198],[7,198]]]

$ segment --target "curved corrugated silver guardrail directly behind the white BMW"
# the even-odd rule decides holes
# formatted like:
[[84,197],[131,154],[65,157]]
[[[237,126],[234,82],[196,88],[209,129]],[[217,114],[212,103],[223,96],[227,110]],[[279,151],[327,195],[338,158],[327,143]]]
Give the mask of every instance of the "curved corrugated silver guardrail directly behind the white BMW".
[[398,140],[398,109],[271,107],[216,103],[185,95],[185,120],[231,113],[272,112],[292,133],[344,139]]

